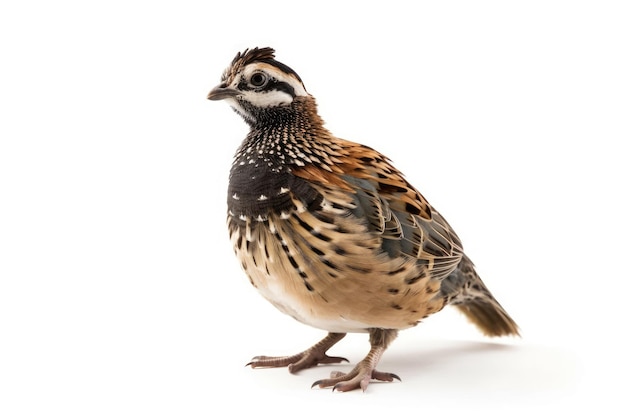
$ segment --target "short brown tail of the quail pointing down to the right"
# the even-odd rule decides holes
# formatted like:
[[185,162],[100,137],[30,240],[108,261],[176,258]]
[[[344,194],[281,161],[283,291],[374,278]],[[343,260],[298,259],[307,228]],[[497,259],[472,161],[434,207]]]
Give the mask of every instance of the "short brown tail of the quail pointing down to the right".
[[482,282],[472,261],[463,257],[458,268],[442,282],[452,294],[450,304],[461,310],[487,336],[519,336],[519,327]]

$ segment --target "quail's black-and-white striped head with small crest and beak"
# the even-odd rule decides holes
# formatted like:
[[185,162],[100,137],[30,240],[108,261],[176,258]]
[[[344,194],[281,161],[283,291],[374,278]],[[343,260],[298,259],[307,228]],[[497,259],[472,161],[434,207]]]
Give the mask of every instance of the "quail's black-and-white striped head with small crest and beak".
[[268,112],[289,107],[296,97],[309,97],[294,70],[274,59],[272,48],[237,53],[209,92],[209,100],[226,100],[246,122],[254,124]]

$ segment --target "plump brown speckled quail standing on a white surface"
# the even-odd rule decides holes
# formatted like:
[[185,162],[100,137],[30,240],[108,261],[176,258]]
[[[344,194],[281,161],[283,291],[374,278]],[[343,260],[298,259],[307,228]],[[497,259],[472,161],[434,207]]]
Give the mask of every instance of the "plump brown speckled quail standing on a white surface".
[[334,136],[273,48],[238,52],[207,98],[227,102],[249,127],[226,216],[245,274],[278,310],[328,332],[299,353],[248,365],[296,373],[341,363],[327,351],[347,333],[367,333],[363,360],[312,385],[365,391],[372,380],[400,380],[377,369],[383,353],[399,331],[447,305],[486,336],[519,336],[443,216],[389,158]]

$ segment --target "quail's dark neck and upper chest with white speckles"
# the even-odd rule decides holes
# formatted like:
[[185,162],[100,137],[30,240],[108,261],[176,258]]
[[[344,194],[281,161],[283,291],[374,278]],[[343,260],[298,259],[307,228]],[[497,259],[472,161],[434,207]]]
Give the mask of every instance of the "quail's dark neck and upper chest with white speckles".
[[295,167],[328,164],[333,153],[332,135],[323,127],[315,102],[307,100],[298,97],[288,108],[265,109],[275,112],[273,117],[258,117],[250,124],[230,171],[228,210],[233,221],[285,216],[295,209],[292,195],[305,205],[319,197],[292,173]]

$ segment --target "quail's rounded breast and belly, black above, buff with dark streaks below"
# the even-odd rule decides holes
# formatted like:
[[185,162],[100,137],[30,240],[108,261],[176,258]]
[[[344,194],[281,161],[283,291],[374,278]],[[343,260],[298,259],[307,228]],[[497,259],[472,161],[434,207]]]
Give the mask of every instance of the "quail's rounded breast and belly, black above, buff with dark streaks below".
[[259,292],[334,332],[411,327],[441,309],[440,282],[416,259],[381,250],[380,235],[352,213],[350,195],[326,191],[288,172],[233,168],[229,232]]

